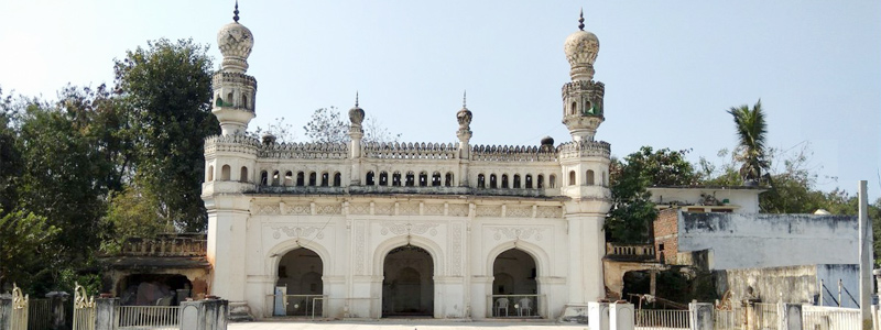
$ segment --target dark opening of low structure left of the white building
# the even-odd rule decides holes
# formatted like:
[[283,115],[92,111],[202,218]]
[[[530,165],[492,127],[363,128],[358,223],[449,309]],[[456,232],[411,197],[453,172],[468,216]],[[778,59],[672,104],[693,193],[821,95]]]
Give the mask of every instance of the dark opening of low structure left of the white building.
[[120,305],[175,306],[191,297],[193,284],[180,274],[132,274],[117,283]]

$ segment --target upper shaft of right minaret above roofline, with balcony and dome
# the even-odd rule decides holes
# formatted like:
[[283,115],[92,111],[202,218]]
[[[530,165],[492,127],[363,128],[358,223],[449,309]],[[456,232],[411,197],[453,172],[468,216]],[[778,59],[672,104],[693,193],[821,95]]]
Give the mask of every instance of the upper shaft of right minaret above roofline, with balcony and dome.
[[578,31],[564,44],[566,59],[572,69],[570,82],[563,86],[563,123],[569,129],[573,141],[594,141],[597,128],[605,120],[602,96],[605,86],[594,81],[594,62],[599,53],[599,40],[584,31],[584,12],[578,19]]

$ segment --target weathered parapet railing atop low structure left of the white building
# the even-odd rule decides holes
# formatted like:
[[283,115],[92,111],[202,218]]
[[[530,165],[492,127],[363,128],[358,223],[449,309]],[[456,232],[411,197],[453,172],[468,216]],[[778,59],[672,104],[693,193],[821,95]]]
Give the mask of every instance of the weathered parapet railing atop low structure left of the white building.
[[163,234],[154,239],[129,239],[120,255],[126,256],[205,256],[208,240],[205,234]]

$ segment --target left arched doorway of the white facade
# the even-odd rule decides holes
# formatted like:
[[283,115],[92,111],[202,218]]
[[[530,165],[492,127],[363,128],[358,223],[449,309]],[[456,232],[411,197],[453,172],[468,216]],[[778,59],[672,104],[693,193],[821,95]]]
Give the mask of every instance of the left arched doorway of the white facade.
[[315,251],[301,248],[292,250],[279,261],[273,316],[320,317],[324,311],[324,262]]

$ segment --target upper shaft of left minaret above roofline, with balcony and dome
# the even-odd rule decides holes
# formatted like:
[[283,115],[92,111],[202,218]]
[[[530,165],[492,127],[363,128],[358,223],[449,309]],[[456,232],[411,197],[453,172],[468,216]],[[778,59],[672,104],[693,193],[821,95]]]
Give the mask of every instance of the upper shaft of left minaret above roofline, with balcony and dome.
[[239,3],[233,22],[217,32],[217,46],[224,54],[220,70],[214,75],[214,108],[211,112],[220,121],[224,135],[244,134],[248,123],[255,117],[254,97],[257,79],[248,76],[248,55],[254,45],[251,30],[239,24]]

